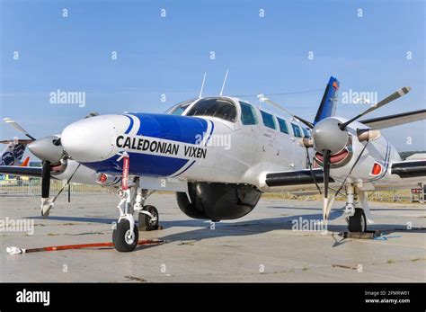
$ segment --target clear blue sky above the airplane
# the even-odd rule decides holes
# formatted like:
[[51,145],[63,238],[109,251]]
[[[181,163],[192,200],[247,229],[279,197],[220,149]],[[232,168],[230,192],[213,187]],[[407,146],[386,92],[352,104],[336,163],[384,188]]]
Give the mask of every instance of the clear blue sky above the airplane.
[[[401,86],[413,87],[368,117],[426,106],[424,1],[0,3],[1,117],[18,120],[37,138],[60,133],[91,111],[165,111],[198,96],[204,72],[205,94],[217,95],[226,68],[228,95],[319,89],[333,75],[341,94],[370,91],[381,99]],[[86,106],[50,104],[49,94],[57,89],[85,92]],[[312,120],[322,94],[271,98]],[[365,109],[340,103],[337,112],[350,117]],[[401,150],[426,149],[425,132],[424,121],[383,131]],[[17,133],[1,123],[0,135]]]

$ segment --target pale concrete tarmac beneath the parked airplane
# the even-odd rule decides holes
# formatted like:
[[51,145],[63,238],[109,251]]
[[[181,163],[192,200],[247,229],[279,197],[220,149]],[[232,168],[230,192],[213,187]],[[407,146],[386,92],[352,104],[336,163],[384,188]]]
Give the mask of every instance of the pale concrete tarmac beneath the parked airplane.
[[[0,281],[426,281],[426,206],[370,203],[383,239],[343,239],[343,202],[336,202],[328,232],[321,202],[262,199],[244,218],[210,224],[186,217],[171,194],[154,194],[146,204],[160,211],[162,230],[139,232],[139,239],[164,239],[132,253],[92,248],[7,254],[21,248],[111,242],[118,218],[115,195],[58,199],[48,219],[40,218],[37,197],[0,197]],[[24,219],[26,232],[11,221]],[[33,222],[33,227],[31,223]],[[310,224],[310,228],[306,228]],[[304,227],[305,225],[305,227]],[[30,230],[29,230],[30,229]],[[318,229],[318,228],[316,228]],[[15,228],[17,230],[17,228]],[[33,232],[33,233],[32,233]]]

